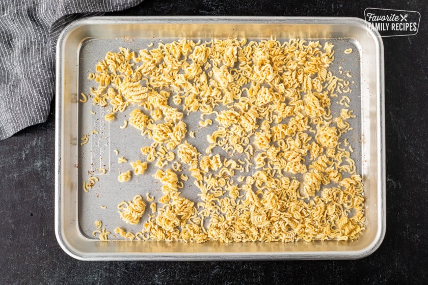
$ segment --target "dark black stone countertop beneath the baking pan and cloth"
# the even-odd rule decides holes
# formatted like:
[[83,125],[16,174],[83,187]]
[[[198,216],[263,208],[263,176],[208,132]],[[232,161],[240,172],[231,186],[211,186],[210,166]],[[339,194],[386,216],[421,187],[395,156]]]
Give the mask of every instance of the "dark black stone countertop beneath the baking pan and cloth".
[[114,15],[364,17],[367,7],[421,14],[415,36],[384,38],[387,232],[355,261],[82,262],[53,230],[54,128],[47,122],[0,141],[0,284],[428,283],[428,8],[425,1],[150,0]]

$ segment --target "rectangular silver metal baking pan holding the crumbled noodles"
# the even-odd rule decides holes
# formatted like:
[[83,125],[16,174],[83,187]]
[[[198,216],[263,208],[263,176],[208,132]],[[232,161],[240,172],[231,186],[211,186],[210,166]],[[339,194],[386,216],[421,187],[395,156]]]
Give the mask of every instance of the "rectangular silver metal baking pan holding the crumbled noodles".
[[[117,173],[109,171],[89,193],[82,191],[88,172],[101,165],[118,169],[114,150],[126,158],[138,157],[135,140],[139,132],[122,132],[123,118],[104,121],[97,106],[78,104],[78,94],[87,93],[87,79],[97,60],[120,46],[138,51],[147,44],[180,38],[210,39],[246,37],[279,40],[289,38],[330,41],[335,45],[331,69],[353,71],[351,109],[357,115],[349,138],[354,144],[354,160],[363,177],[366,230],[355,241],[315,241],[292,243],[219,242],[102,242],[92,236],[94,221],[102,220],[111,232],[122,226],[116,206],[147,188],[154,181],[131,181],[119,185]],[[354,52],[343,51],[352,47]],[[384,142],[384,63],[383,44],[378,34],[359,18],[322,17],[92,17],[71,23],[62,32],[57,45],[56,77],[56,198],[55,231],[59,244],[72,257],[81,260],[260,260],[260,259],[358,259],[376,250],[385,235],[385,142]],[[356,94],[357,93],[357,94]],[[358,96],[357,96],[358,95]],[[91,116],[91,109],[96,115]],[[120,116],[126,116],[126,112]],[[122,119],[122,120],[121,120]],[[192,122],[192,118],[189,118]],[[80,138],[91,130],[89,144],[80,146]],[[196,131],[196,129],[195,129]],[[201,130],[204,131],[204,130]],[[209,131],[209,130],[206,130]],[[189,138],[191,139],[191,138]],[[192,141],[191,141],[192,143]],[[196,142],[195,142],[196,143]],[[153,167],[154,168],[154,167]],[[112,174],[110,174],[112,172]],[[149,173],[150,175],[151,173]],[[196,188],[195,188],[196,190]],[[186,189],[184,196],[196,197]],[[151,192],[156,196],[156,191]],[[157,193],[159,194],[159,193]],[[158,198],[158,196],[156,196]],[[107,208],[101,209],[100,205]],[[148,211],[146,211],[148,212]],[[144,219],[144,217],[143,217]],[[139,231],[142,225],[127,230]]]

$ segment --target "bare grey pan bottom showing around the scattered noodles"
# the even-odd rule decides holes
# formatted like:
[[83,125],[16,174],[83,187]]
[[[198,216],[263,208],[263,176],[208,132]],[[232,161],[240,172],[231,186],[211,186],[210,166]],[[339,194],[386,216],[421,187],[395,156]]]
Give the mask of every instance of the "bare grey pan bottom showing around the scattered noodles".
[[[154,46],[157,46],[158,42],[162,41],[165,43],[171,40],[175,39],[91,38],[84,41],[79,50],[78,94],[81,92],[88,94],[90,87],[97,86],[94,80],[90,81],[87,77],[90,72],[95,72],[95,65],[99,60],[104,58],[108,51],[117,52],[119,51],[119,47],[126,47],[131,51],[138,52],[142,48],[148,48],[147,45],[152,42]],[[199,39],[194,40],[197,41]],[[286,39],[279,40],[283,41]],[[316,40],[319,40],[321,44],[325,43],[324,39]],[[357,117],[347,121],[350,123],[353,130],[344,133],[340,141],[343,144],[345,138],[349,139],[354,150],[351,157],[355,160],[357,172],[361,173],[361,161],[363,159],[361,149],[361,124],[363,120],[363,118],[361,118],[360,92],[361,50],[352,39],[329,39],[328,41],[332,42],[335,46],[334,62],[329,71],[339,78],[354,82],[350,83],[352,93],[343,95],[347,95],[351,98],[349,109],[354,110],[354,115]],[[344,50],[347,48],[353,49],[351,54],[344,53]],[[339,67],[341,67],[340,71]],[[352,75],[351,78],[345,75],[346,71],[350,72]],[[337,98],[331,98],[331,111],[333,117],[338,117],[340,110],[346,108],[338,104],[338,101],[341,99],[341,94],[337,94]],[[108,112],[108,107],[94,106],[91,98],[89,98],[87,103],[78,105],[78,138],[81,138],[84,134],[91,134],[92,130],[98,131],[97,134],[90,135],[88,144],[83,146],[78,145],[78,226],[81,233],[87,238],[95,238],[92,235],[92,232],[95,230],[95,220],[101,220],[103,227],[106,227],[106,229],[112,233],[118,226],[122,226],[127,231],[132,231],[134,233],[141,231],[143,222],[148,218],[148,214],[151,213],[148,208],[149,203],[146,202],[146,212],[138,225],[126,224],[117,212],[117,205],[123,200],[131,200],[132,197],[137,194],[142,195],[145,200],[146,193],[148,192],[155,196],[155,202],[162,196],[160,182],[152,177],[157,170],[154,162],[149,163],[148,169],[144,175],[133,175],[129,182],[120,183],[117,179],[119,173],[132,170],[129,165],[130,161],[135,161],[137,159],[142,161],[145,160],[146,157],[141,155],[140,148],[149,146],[152,143],[152,139],[143,137],[140,131],[132,126],[128,126],[125,129],[120,128],[124,121],[128,120],[129,113],[137,107],[136,105],[131,105],[123,113],[117,113],[116,120],[106,122],[104,116]],[[181,110],[180,107],[178,108]],[[94,115],[91,114],[91,110],[95,112]],[[190,115],[184,113],[183,121],[188,126],[188,133],[185,139],[196,146],[199,152],[203,153],[208,146],[206,135],[215,131],[217,129],[217,124],[215,120],[213,120],[215,118],[213,116],[215,115],[207,116],[206,118],[212,119],[213,125],[201,128],[198,124],[200,121],[199,115],[200,112],[193,112]],[[194,131],[196,138],[190,137],[189,131]],[[213,154],[220,153],[222,158],[228,157],[225,152],[222,150],[218,151],[218,149],[219,148],[216,148]],[[119,151],[119,155],[115,154],[115,150]],[[176,150],[174,152],[176,153]],[[128,160],[128,163],[118,163],[118,157],[120,156],[124,156]],[[308,162],[309,159],[306,161]],[[171,163],[167,167],[170,166]],[[100,175],[98,171],[100,167],[108,169],[108,172],[105,175]],[[164,167],[164,169],[165,168],[166,167]],[[193,184],[194,179],[191,177],[188,170],[186,170],[185,167],[183,168],[183,173],[189,176],[189,180],[184,183],[184,188],[181,190],[182,195],[192,201],[199,202],[200,200],[197,196],[199,189]],[[235,176],[251,175],[254,169],[250,167],[249,170],[250,173],[248,174],[236,172]],[[89,192],[85,193],[83,191],[83,181],[88,181],[91,175],[98,177],[99,182],[97,182]],[[292,176],[292,174],[290,174],[290,176]],[[299,175],[296,177],[299,178]],[[106,209],[102,209],[101,205],[105,206]],[[112,238],[112,236],[110,238]]]

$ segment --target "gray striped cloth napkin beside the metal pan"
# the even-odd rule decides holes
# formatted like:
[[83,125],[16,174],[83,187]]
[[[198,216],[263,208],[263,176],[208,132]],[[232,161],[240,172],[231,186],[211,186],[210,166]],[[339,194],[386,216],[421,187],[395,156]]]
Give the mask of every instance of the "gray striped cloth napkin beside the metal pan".
[[46,121],[55,86],[55,46],[64,26],[142,0],[1,0],[0,140]]

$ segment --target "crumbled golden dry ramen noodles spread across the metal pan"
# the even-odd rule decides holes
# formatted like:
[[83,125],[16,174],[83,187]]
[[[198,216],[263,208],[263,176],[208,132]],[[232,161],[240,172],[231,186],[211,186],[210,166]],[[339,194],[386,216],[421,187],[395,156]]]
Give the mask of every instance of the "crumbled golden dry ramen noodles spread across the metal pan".
[[[132,108],[129,125],[152,140],[141,153],[157,167],[154,179],[162,185],[141,232],[115,233],[130,240],[184,242],[360,236],[362,179],[351,144],[342,138],[355,117],[350,97],[338,101],[346,107],[339,116],[331,110],[331,98],[352,90],[349,81],[329,71],[333,44],[183,39],[148,47],[110,51],[88,77],[98,83],[90,90],[93,103],[110,107],[106,121]],[[185,140],[183,116],[192,112],[201,114],[200,127],[215,128],[204,149]],[[147,163],[131,166],[139,175]],[[128,181],[130,175],[118,179]],[[182,196],[184,183],[198,188],[200,202]],[[147,195],[148,201],[153,198]],[[140,195],[118,206],[131,224],[140,222],[145,207]]]

